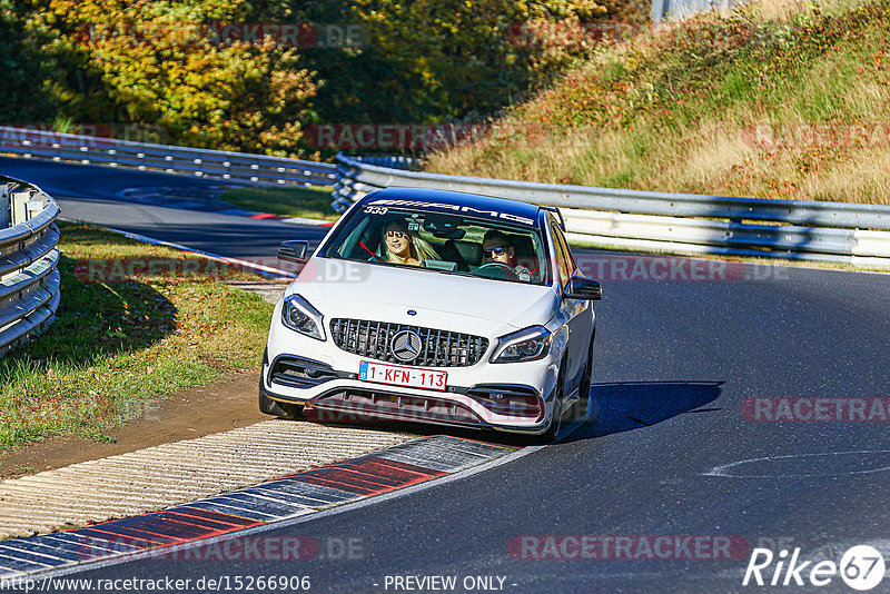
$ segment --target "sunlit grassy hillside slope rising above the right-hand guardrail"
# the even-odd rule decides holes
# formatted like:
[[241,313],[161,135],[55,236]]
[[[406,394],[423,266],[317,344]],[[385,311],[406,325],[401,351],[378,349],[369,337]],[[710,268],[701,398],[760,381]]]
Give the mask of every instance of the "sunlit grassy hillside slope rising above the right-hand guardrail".
[[890,204],[888,30],[888,0],[762,0],[637,30],[426,168]]

